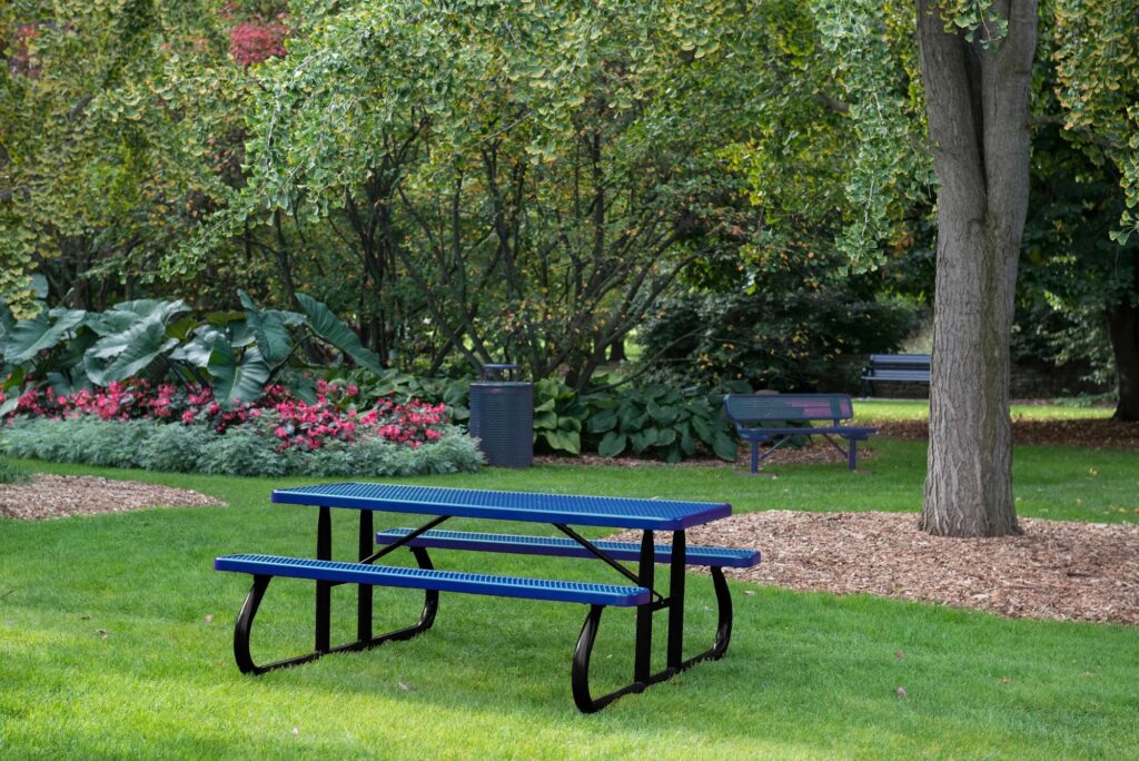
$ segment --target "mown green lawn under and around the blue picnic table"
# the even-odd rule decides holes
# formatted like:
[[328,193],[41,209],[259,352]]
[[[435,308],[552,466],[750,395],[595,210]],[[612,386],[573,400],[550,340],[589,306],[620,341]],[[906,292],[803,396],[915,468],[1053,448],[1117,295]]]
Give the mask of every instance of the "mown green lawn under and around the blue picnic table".
[[[732,468],[547,466],[409,482],[728,500],[737,510],[916,510],[924,444],[882,440],[874,449],[866,475],[841,465],[775,465],[776,480]],[[1018,449],[1019,512],[1137,521],[1134,457]],[[213,572],[212,559],[311,556],[314,510],[270,505],[281,485],[272,481],[19,465],[189,486],[230,506],[0,521],[0,758],[1139,756],[1134,628],[744,583],[734,584],[723,661],[591,717],[570,695],[584,615],[576,605],[443,596],[435,628],[415,640],[241,677],[231,630],[248,580]],[[354,526],[336,517],[334,554],[349,558]],[[377,526],[413,521],[377,516]],[[609,580],[598,564],[574,560],[434,557],[458,570]],[[695,574],[689,583],[694,652],[715,622],[705,609],[711,583]],[[377,590],[376,599],[377,631],[410,623],[421,604],[405,590]],[[341,638],[351,638],[349,588],[334,591],[334,613],[343,614]],[[274,581],[254,655],[309,649],[311,616],[311,583]],[[595,692],[628,681],[631,641],[632,615],[607,612]]]

